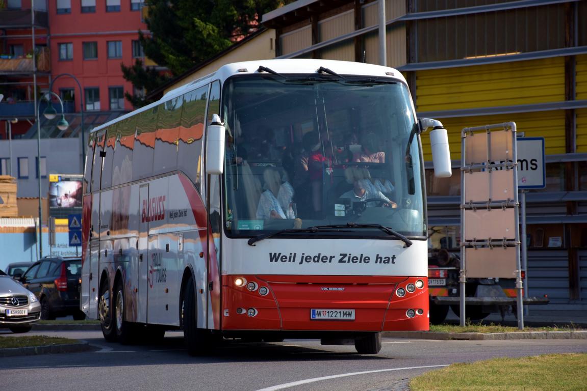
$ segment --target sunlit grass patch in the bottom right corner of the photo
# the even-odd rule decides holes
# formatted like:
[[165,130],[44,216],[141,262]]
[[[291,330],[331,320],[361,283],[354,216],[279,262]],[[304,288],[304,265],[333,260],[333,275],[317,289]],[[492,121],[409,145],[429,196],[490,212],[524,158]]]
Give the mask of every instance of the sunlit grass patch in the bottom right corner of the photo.
[[565,353],[456,363],[410,381],[412,391],[585,390],[587,354]]

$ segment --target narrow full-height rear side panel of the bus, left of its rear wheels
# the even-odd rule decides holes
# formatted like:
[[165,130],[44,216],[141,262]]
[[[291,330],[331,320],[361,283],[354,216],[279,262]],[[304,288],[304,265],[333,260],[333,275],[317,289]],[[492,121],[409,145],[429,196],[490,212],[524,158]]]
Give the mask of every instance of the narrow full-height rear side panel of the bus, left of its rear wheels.
[[96,147],[93,156],[92,182],[89,183],[92,192],[92,222],[90,223],[90,267],[89,267],[89,318],[98,317],[98,295],[100,284],[100,182],[102,182],[103,151],[106,147],[106,130],[96,135]]

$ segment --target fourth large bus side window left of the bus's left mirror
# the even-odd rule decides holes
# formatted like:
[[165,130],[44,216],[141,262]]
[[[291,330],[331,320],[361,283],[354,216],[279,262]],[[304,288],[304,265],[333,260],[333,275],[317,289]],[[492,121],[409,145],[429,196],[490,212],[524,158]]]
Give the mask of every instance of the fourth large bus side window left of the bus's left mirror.
[[112,163],[112,186],[127,183],[132,180],[135,128],[136,117],[134,116],[119,123]]

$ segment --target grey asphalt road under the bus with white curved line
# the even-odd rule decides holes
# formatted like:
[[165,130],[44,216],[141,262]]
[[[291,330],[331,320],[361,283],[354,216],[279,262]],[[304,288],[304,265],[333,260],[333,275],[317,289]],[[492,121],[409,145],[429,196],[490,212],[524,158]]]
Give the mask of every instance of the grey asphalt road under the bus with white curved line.
[[[406,390],[407,379],[454,362],[587,352],[584,339],[384,338],[378,355],[359,355],[354,346],[321,346],[316,340],[286,340],[278,344],[233,341],[218,348],[214,356],[194,358],[183,349],[180,332],[167,332],[161,344],[133,346],[106,342],[100,331],[45,331],[27,335],[35,334],[84,339],[96,345],[97,350],[3,358],[0,390],[30,391],[39,387],[60,391]],[[15,336],[4,331],[0,335]]]

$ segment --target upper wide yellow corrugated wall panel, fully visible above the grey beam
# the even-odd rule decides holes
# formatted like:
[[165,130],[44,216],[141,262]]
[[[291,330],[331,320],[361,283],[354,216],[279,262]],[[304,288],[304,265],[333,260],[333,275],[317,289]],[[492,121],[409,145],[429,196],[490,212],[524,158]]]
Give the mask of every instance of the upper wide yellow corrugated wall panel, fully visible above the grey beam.
[[565,100],[563,57],[416,72],[417,111]]

